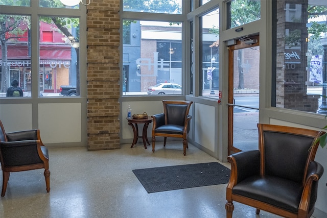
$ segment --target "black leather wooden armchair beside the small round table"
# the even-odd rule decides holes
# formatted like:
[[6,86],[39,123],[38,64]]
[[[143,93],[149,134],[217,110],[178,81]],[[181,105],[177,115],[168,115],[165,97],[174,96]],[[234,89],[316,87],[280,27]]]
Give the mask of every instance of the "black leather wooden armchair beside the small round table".
[[167,137],[176,137],[183,139],[183,153],[186,155],[188,146],[188,133],[190,131],[189,115],[190,107],[193,102],[189,101],[162,101],[164,104],[164,113],[153,115],[152,127],[152,152],[155,147],[155,136],[163,136],[164,146],[166,146]]

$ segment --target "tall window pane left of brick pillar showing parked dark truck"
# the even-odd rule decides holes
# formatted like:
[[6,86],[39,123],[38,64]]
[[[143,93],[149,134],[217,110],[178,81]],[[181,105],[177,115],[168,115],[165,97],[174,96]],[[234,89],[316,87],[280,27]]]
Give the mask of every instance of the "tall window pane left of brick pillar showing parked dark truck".
[[79,18],[40,17],[39,20],[40,96],[78,96]]

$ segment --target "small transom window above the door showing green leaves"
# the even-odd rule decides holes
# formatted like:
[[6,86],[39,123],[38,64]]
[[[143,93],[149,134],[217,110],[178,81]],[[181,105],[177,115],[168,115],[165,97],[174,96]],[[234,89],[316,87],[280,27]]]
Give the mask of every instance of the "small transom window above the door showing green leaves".
[[234,28],[260,19],[259,0],[232,0],[228,7],[228,28]]

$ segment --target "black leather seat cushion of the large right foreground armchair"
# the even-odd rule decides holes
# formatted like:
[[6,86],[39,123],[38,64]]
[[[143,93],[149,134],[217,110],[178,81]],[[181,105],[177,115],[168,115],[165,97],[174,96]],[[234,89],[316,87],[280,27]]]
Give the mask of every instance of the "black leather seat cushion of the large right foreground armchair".
[[232,193],[297,213],[302,195],[301,184],[274,176],[252,176],[232,189]]

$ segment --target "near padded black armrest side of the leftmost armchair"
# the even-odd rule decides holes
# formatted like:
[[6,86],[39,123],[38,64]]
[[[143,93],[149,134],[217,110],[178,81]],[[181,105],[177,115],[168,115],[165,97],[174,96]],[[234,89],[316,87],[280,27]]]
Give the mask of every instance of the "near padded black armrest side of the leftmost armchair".
[[40,140],[0,142],[0,151],[5,167],[43,162],[42,159],[46,158],[40,147]]

